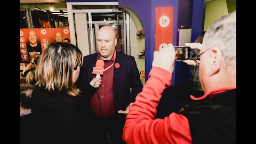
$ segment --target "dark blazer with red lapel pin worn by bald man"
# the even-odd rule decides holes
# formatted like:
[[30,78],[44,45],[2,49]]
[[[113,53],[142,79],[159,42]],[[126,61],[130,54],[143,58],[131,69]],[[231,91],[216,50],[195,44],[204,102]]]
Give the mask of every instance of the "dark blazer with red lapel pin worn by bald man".
[[[82,91],[82,95],[90,100],[97,91],[90,85],[93,74],[92,69],[97,62],[98,53],[86,55],[81,67],[76,86]],[[119,63],[119,68],[114,65],[113,95],[114,110],[125,110],[129,103],[135,101],[136,95],[142,90],[140,74],[134,57],[116,52],[115,63]],[[132,89],[132,90],[130,90]]]

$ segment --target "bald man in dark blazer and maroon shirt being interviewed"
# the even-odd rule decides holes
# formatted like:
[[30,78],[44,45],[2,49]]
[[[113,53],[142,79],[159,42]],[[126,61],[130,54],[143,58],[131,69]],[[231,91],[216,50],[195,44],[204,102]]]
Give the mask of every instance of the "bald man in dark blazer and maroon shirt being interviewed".
[[[84,57],[76,85],[82,90],[98,117],[95,143],[124,143],[122,129],[136,95],[142,90],[140,74],[134,57],[115,50],[115,29],[103,26],[97,34],[98,53]],[[99,78],[92,74],[97,60],[103,60],[104,73]]]

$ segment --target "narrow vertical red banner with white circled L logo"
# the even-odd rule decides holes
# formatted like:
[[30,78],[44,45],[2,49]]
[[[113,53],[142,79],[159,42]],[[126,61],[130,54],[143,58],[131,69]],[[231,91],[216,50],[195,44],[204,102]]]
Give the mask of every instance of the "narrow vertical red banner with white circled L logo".
[[173,7],[156,7],[156,51],[172,43]]

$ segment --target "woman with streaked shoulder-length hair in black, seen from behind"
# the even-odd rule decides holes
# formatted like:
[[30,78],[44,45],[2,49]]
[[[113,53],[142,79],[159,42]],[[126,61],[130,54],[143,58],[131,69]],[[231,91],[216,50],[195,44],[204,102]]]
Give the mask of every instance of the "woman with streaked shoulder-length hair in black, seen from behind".
[[93,113],[74,84],[82,52],[73,44],[51,43],[38,63],[31,96],[35,143],[92,143]]

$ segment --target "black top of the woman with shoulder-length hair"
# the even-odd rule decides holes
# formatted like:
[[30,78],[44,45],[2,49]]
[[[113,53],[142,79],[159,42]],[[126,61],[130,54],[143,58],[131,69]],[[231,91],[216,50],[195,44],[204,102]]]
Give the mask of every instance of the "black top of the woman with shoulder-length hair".
[[35,88],[31,96],[35,143],[91,143],[94,115],[78,97]]

